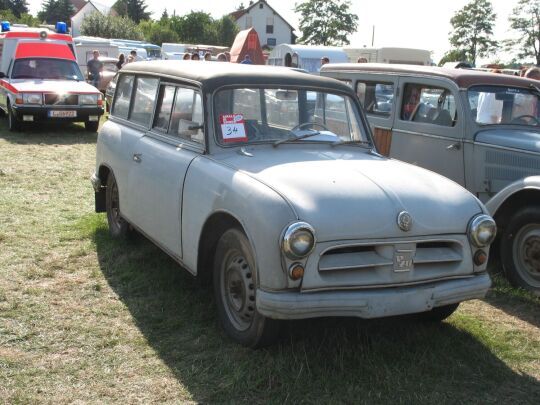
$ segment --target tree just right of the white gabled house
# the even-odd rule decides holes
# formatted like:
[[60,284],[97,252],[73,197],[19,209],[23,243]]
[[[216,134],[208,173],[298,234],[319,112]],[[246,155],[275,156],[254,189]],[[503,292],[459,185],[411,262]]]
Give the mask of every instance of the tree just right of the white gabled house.
[[358,26],[358,16],[350,12],[348,0],[308,0],[295,5],[300,13],[300,43],[311,45],[348,45],[348,35]]

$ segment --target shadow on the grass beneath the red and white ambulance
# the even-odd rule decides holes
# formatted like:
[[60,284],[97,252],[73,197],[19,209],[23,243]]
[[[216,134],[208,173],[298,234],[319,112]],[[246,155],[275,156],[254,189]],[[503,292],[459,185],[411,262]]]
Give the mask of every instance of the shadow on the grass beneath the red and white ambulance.
[[5,118],[0,119],[0,139],[21,145],[74,145],[96,143],[97,133],[88,132],[82,124],[36,123],[10,132]]

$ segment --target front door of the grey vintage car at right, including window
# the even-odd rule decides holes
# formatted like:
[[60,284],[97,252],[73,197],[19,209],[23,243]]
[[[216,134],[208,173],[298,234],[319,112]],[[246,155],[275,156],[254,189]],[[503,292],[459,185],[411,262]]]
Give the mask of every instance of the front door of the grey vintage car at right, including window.
[[449,80],[401,77],[390,157],[440,173],[465,186],[464,111]]

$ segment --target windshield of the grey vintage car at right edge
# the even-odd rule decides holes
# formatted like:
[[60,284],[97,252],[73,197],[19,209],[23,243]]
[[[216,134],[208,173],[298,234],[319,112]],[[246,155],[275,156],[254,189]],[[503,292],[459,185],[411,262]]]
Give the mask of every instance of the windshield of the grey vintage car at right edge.
[[473,119],[481,125],[539,126],[539,97],[536,89],[475,86],[468,92]]

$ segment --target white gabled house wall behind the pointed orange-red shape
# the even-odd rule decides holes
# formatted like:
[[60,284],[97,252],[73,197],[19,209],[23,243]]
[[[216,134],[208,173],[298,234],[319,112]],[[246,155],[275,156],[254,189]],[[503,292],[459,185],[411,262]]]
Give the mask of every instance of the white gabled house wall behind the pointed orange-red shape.
[[[263,8],[259,8],[259,4],[263,4]],[[255,28],[257,34],[259,34],[259,40],[261,41],[261,46],[268,44],[268,38],[274,38],[276,40],[276,45],[279,44],[290,44],[292,30],[291,27],[277,14],[274,14],[274,11],[264,3],[256,4],[255,7],[249,10],[249,13],[244,14],[238,20],[236,24],[240,30],[245,30],[248,28]],[[273,20],[274,33],[266,33],[267,19]]]

